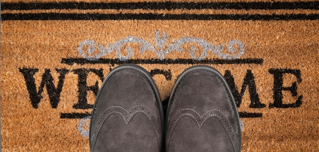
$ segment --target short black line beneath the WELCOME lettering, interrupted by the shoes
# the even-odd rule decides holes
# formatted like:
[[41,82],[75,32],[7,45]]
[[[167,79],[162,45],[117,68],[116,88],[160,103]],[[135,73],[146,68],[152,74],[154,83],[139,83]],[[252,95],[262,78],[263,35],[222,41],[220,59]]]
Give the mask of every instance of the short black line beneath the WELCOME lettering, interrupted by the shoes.
[[[242,118],[257,118],[257,117],[262,117],[262,113],[248,113],[248,112],[239,112],[240,117]],[[77,113],[77,112],[73,112],[73,113],[61,113],[60,114],[60,118],[64,119],[82,119],[85,118],[87,116],[90,116],[91,113]]]

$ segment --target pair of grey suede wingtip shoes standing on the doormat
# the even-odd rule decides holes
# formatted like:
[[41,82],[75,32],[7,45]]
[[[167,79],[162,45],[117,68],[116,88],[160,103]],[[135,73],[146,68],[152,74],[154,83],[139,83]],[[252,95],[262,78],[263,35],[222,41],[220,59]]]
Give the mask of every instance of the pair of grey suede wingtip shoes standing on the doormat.
[[105,78],[93,107],[91,151],[240,151],[237,107],[222,75],[194,66],[177,79],[166,119],[151,75],[125,64]]

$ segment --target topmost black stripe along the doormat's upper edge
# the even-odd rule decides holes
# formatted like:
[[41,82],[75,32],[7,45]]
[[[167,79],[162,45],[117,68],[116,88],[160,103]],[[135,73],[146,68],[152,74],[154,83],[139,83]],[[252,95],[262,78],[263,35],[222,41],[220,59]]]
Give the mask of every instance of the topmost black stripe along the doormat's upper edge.
[[145,9],[145,10],[172,10],[172,9],[236,9],[236,10],[276,10],[276,9],[311,9],[318,10],[319,2],[243,2],[243,3],[187,3],[187,2],[143,2],[143,3],[1,3],[1,10],[47,10],[47,9]]

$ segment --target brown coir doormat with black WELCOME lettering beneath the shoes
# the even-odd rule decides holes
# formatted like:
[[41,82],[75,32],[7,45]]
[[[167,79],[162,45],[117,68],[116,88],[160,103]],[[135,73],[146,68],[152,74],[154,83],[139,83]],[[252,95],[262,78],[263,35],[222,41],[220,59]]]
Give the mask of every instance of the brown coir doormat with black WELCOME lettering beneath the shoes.
[[242,151],[319,150],[319,2],[2,1],[3,151],[89,151],[103,79],[132,63],[167,104],[179,74],[218,69]]

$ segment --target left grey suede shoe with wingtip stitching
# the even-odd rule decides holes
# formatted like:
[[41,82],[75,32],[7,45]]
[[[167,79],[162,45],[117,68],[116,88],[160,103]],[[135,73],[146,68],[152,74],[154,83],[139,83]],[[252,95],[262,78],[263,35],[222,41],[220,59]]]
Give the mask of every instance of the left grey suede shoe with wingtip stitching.
[[91,151],[161,151],[161,99],[151,75],[125,64],[105,78],[93,107]]

